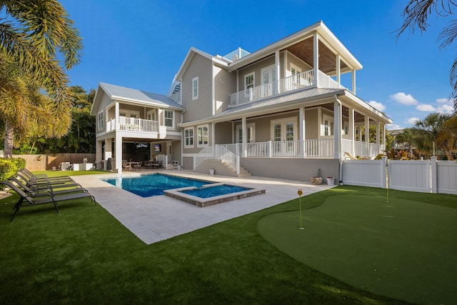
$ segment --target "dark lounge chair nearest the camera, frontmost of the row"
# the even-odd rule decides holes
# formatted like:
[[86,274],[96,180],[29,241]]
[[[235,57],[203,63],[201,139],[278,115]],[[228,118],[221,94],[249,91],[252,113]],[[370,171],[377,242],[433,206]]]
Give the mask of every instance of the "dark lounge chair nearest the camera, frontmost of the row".
[[19,201],[14,204],[14,214],[11,217],[11,221],[14,220],[14,216],[16,216],[16,213],[21,209],[22,204],[24,201],[28,202],[31,206],[36,206],[38,204],[54,204],[54,208],[56,209],[56,212],[59,213],[59,210],[57,209],[57,201],[65,201],[65,200],[73,200],[73,199],[82,199],[82,198],[90,198],[91,201],[95,202],[95,205],[97,204],[95,201],[94,196],[92,196],[89,193],[72,193],[72,194],[65,194],[65,195],[60,195],[60,196],[53,196],[51,194],[48,194],[46,196],[31,196],[30,194],[26,194],[24,191],[22,191],[19,186],[16,186],[13,184],[11,181],[1,181],[0,184],[4,184],[6,186],[9,186],[13,191],[15,191],[21,198]]

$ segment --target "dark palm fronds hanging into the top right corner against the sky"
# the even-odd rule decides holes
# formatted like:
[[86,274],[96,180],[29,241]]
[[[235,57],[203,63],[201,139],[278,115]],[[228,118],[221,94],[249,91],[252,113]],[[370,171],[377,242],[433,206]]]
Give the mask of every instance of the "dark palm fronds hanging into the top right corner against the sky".
[[[410,0],[403,10],[403,25],[397,30],[397,39],[406,29],[421,33],[427,30],[428,16],[435,12],[438,16],[449,16],[456,9],[456,0]],[[438,35],[441,41],[440,48],[444,48],[453,43],[457,37],[457,20],[449,22]],[[457,111],[457,57],[454,59],[449,75],[449,82],[452,87],[451,99],[453,99],[454,109]]]

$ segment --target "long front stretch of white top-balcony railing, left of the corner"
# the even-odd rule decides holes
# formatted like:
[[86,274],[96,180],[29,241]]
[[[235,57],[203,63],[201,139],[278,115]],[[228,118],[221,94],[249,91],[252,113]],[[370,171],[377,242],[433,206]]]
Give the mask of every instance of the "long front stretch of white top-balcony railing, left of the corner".
[[300,74],[280,79],[279,81],[273,81],[268,84],[255,86],[253,88],[230,94],[230,106],[241,105],[250,101],[258,101],[259,99],[265,99],[268,96],[273,96],[277,93],[276,86],[279,86],[282,93],[312,86],[313,82],[313,70],[304,71]]

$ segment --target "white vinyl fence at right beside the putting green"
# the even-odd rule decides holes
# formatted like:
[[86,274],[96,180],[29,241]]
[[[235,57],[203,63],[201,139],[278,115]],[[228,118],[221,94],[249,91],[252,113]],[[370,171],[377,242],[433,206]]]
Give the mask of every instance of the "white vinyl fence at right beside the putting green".
[[423,193],[457,194],[457,162],[431,160],[344,160],[343,184]]

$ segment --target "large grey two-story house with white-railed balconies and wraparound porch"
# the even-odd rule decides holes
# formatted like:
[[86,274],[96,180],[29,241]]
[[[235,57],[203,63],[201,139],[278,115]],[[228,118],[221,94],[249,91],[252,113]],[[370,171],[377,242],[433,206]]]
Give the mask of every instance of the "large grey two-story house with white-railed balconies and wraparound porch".
[[[121,151],[120,140],[124,146],[167,141],[171,151],[164,154],[169,163],[177,160],[184,169],[207,173],[211,168],[216,174],[236,176],[244,167],[256,176],[304,181],[319,169],[323,176],[338,177],[346,153],[373,157],[382,152],[385,126],[392,123],[356,96],[356,71],[361,68],[321,21],[252,54],[239,48],[226,56],[211,56],[191,48],[169,98],[162,96],[162,104],[135,99],[144,108],[142,119],[149,119],[148,109],[156,109],[158,126],[164,125],[164,111],[173,111],[173,127],[178,128],[173,134],[167,129],[165,137],[136,130],[126,135],[118,127],[111,132],[104,124],[124,117],[114,109],[130,105],[123,92],[135,90],[100,84],[92,109],[99,122],[97,160],[102,158],[101,141],[105,147],[114,141],[114,151]],[[350,76],[351,89],[341,84],[342,74]],[[110,93],[112,87],[121,93]],[[371,125],[376,126],[376,143],[368,143]],[[175,138],[178,134],[180,139]],[[121,170],[118,159],[116,169]]]

